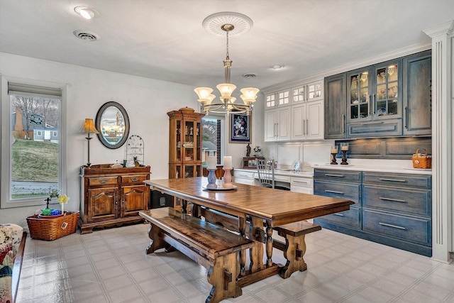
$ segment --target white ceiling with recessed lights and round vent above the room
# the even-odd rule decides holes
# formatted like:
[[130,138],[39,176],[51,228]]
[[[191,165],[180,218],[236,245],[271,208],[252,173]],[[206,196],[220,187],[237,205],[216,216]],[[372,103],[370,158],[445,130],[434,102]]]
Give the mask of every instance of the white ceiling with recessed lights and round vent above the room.
[[[85,20],[75,6],[100,16]],[[430,45],[422,31],[453,20],[454,0],[0,0],[0,51],[214,87],[223,82],[226,39],[201,23],[220,11],[253,20],[230,39],[231,82],[262,88]],[[80,40],[77,30],[101,39]]]

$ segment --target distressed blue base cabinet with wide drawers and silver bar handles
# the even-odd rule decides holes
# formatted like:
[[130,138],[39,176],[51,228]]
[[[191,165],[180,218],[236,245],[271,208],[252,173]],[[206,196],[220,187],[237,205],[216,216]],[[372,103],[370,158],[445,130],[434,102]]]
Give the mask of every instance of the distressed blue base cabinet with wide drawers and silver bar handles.
[[321,216],[333,231],[432,255],[431,175],[314,171],[314,194],[351,199],[349,211]]

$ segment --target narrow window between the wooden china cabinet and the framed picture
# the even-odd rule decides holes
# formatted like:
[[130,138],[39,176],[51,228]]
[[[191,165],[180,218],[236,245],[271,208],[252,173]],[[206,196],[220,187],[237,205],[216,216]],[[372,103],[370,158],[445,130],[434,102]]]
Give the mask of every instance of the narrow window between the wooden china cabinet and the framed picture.
[[208,156],[216,156],[218,165],[223,159],[223,117],[210,116],[201,119],[202,123],[202,161],[206,162]]

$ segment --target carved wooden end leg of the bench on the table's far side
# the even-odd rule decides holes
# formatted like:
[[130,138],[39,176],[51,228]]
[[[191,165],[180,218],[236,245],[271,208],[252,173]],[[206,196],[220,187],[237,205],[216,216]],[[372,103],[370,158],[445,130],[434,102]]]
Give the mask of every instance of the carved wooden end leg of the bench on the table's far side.
[[284,267],[280,270],[279,275],[284,279],[290,277],[293,272],[307,270],[306,262],[304,262],[304,253],[306,253],[306,242],[304,235],[289,236],[279,235],[285,238],[284,258],[287,259]]

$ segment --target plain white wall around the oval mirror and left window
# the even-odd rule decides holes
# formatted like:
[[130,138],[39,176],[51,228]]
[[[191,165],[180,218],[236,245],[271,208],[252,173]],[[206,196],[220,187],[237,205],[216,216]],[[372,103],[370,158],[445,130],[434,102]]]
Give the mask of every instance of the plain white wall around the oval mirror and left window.
[[[67,84],[67,194],[70,201],[65,210],[79,210],[79,167],[87,163],[86,133],[81,128],[86,118],[96,118],[96,112],[107,101],[116,101],[128,112],[131,121],[129,135],[138,135],[145,143],[145,165],[151,166],[151,178],[168,177],[169,161],[169,117],[167,111],[184,106],[199,111],[194,87],[163,82],[145,77],[136,77],[116,72],[96,70],[60,62],[39,60],[0,53],[0,74],[24,80]],[[260,102],[257,102],[260,103]],[[256,106],[260,109],[262,106]],[[262,124],[262,112],[253,123]],[[4,121],[1,121],[2,126]],[[7,123],[5,121],[5,123]],[[259,124],[260,125],[260,124]],[[226,124],[228,131],[228,124]],[[253,138],[262,138],[260,128],[253,127]],[[1,138],[2,144],[8,138]],[[226,136],[228,142],[228,136]],[[233,156],[234,163],[240,163],[245,154],[245,144],[226,146],[226,153]],[[98,138],[90,143],[90,162],[92,164],[122,162],[126,144],[116,150],[104,147]],[[244,150],[244,151],[243,151]],[[234,165],[238,167],[238,164]],[[27,226],[26,217],[43,206],[1,209],[1,223],[16,223]]]

